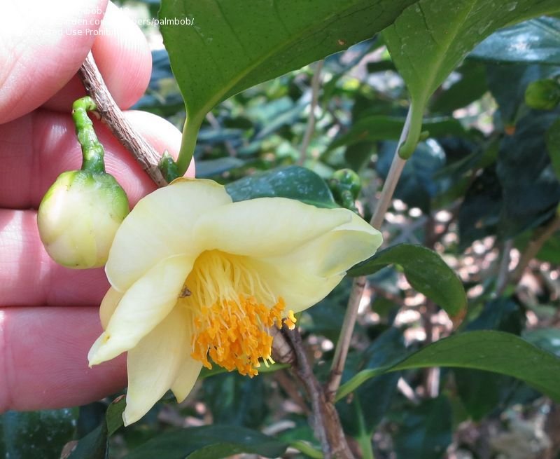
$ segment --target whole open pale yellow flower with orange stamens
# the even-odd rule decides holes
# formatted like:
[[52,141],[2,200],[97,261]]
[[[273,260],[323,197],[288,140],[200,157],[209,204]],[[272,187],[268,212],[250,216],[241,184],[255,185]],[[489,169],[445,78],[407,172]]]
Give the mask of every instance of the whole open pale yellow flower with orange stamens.
[[125,425],[171,389],[181,402],[202,366],[257,374],[270,327],[323,299],[374,254],[379,231],[346,209],[285,198],[232,203],[214,181],[179,179],[117,231],[90,365],[128,352]]

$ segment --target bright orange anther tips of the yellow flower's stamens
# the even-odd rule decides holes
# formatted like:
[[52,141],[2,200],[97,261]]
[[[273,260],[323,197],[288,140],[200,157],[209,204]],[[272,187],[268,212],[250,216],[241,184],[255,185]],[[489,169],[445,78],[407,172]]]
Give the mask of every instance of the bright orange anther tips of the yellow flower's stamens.
[[[228,371],[255,376],[262,359],[266,366],[271,357],[272,336],[267,329],[282,327],[285,304],[283,299],[267,308],[253,296],[239,295],[236,300],[220,299],[212,306],[202,306],[194,320],[193,359],[211,369],[208,356]],[[295,317],[288,313],[285,320],[293,327]]]

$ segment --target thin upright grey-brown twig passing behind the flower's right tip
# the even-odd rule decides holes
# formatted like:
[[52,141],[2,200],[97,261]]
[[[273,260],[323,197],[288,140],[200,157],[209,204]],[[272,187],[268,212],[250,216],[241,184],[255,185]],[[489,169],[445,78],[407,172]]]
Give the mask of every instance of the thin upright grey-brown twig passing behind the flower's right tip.
[[[400,158],[398,151],[408,136],[411,120],[412,105],[408,110],[405,125],[402,127],[400,139],[395,149],[393,163],[391,163],[391,168],[389,169],[387,178],[383,184],[383,189],[381,190],[381,197],[377,201],[377,207],[375,207],[375,212],[370,221],[370,224],[374,228],[381,228],[381,224],[385,219],[385,213],[391,204],[391,198],[393,198],[393,193],[395,192],[398,179],[400,178],[402,169],[405,167],[406,160]],[[325,386],[325,392],[330,400],[335,399],[336,392],[342,379],[342,371],[344,370],[344,363],[346,362],[346,357],[348,356],[350,341],[354,325],[356,324],[356,317],[358,317],[358,308],[362,299],[365,283],[365,276],[360,276],[353,280],[348,306],[346,306],[346,313],[344,314],[344,322],[342,322],[342,329],[340,330],[340,336],[335,349],[335,357],[332,359],[329,379]]]

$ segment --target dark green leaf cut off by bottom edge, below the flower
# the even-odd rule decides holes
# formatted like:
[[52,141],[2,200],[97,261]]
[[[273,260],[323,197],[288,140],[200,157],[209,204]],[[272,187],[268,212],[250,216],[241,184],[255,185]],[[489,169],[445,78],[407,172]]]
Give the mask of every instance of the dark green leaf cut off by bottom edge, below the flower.
[[219,459],[239,453],[276,458],[288,444],[255,430],[209,425],[165,432],[134,449],[125,459]]

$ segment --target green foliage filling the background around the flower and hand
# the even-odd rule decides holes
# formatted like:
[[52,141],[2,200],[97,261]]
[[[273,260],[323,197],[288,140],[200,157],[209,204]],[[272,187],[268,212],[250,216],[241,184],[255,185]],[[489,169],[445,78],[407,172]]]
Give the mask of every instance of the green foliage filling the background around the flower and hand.
[[[368,281],[337,398],[353,451],[560,458],[560,17],[537,17],[556,1],[325,0],[307,11],[284,0],[272,13],[249,3],[165,2],[163,15],[193,17],[216,36],[186,48],[174,41],[197,39],[196,29],[163,29],[169,53],[153,51],[135,107],[179,128],[187,119],[190,135],[200,126],[188,146],[197,175],[226,184],[235,200],[341,205],[329,179],[349,168],[369,219],[414,105],[410,132],[421,141],[386,214],[386,249],[349,273]],[[144,4],[151,14],[159,7],[125,2],[134,14]],[[543,80],[552,90],[526,99]],[[300,320],[319,378],[350,284]],[[71,458],[321,457],[288,369],[204,376],[186,402],[165,398],[126,429],[114,397],[6,413],[0,451],[58,458],[80,439]]]

